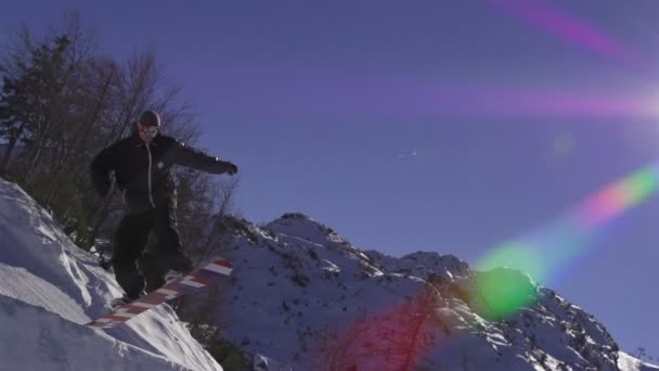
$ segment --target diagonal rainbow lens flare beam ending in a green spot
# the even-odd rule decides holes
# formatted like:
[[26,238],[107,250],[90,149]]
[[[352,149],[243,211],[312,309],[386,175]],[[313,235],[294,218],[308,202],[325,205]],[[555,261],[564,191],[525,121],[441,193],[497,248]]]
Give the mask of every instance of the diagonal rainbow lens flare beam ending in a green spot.
[[[656,193],[659,183],[659,164],[642,168],[615,181],[579,203],[564,217],[518,240],[494,246],[477,261],[479,271],[498,267],[519,269],[533,280],[547,282],[556,279],[569,263],[577,260],[593,247],[593,241],[617,217],[641,205]],[[509,285],[492,279],[477,280],[476,289],[499,303],[492,309],[496,316],[515,312],[529,304],[527,291],[499,287]],[[513,286],[515,287],[515,286]]]

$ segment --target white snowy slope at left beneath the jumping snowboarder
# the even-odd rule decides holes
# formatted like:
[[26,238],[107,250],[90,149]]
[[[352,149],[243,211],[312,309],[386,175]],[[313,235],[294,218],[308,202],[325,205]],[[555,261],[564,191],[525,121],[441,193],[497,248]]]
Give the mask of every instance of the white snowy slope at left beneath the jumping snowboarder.
[[167,306],[113,330],[83,325],[118,295],[94,257],[0,180],[0,370],[221,370]]

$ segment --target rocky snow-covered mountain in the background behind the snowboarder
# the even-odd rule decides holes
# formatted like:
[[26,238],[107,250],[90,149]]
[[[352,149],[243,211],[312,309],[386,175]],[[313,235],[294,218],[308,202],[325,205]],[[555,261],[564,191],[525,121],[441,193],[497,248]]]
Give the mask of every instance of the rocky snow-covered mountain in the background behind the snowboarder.
[[[437,253],[362,252],[299,214],[262,227],[242,222],[224,252],[235,269],[218,323],[227,338],[286,370],[389,370],[396,362],[410,370],[659,370],[620,351],[593,316],[521,272],[474,272]],[[487,320],[471,284],[479,274],[518,280],[538,302]],[[410,303],[430,279],[437,296],[410,332],[418,311]],[[412,333],[405,358],[397,347]],[[348,344],[340,355],[332,335]],[[327,344],[335,344],[330,358]]]

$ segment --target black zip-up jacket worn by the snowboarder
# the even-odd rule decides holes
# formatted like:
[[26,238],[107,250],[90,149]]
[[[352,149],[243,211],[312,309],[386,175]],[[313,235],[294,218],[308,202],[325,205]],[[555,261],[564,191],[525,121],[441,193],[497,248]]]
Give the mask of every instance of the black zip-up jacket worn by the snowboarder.
[[[211,174],[227,172],[233,165],[163,135],[146,145],[137,131],[105,148],[91,162],[91,179],[101,195],[111,187],[114,171],[128,213],[142,213],[168,203],[176,205],[171,168],[191,167]],[[173,206],[176,207],[176,206]]]

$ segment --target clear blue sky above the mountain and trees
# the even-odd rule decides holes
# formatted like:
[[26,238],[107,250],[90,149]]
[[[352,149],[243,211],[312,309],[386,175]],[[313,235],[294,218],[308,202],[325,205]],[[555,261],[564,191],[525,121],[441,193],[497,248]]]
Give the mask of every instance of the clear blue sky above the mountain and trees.
[[[26,0],[0,27],[77,9],[117,59],[155,50],[249,220],[300,212],[362,248],[475,264],[659,155],[658,115],[625,108],[659,97],[659,3],[556,1],[559,22],[516,2]],[[655,355],[658,213],[624,213],[546,282]]]

